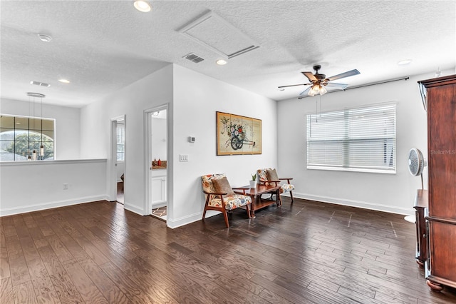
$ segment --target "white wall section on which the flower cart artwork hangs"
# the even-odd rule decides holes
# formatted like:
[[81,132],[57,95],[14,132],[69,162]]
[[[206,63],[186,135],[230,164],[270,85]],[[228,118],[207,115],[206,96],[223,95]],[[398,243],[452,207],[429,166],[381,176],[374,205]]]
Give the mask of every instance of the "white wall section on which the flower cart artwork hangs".
[[[174,66],[172,217],[176,227],[201,219],[204,208],[201,176],[226,173],[233,187],[249,184],[257,168],[277,161],[276,101],[217,79]],[[261,119],[261,155],[217,156],[216,111]],[[195,143],[187,141],[195,136]],[[180,154],[189,161],[180,162]]]

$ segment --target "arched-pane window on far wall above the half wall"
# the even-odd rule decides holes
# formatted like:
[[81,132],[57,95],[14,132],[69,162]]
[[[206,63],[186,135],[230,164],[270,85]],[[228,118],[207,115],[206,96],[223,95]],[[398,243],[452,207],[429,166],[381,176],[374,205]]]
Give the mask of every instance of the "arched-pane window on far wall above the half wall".
[[[27,161],[36,151],[37,160],[54,159],[55,120],[0,115],[0,161]],[[40,155],[40,146],[44,154]]]

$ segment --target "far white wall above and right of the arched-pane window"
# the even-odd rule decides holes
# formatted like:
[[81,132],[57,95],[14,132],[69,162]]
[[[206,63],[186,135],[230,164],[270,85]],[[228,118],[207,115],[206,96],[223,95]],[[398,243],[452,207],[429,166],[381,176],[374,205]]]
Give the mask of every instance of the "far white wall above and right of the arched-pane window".
[[[33,116],[28,101],[15,101],[2,98],[0,113],[18,116]],[[68,106],[53,106],[43,103],[43,118],[56,119],[56,159],[79,159],[81,128],[80,109]],[[36,105],[35,116],[41,116],[41,105]]]

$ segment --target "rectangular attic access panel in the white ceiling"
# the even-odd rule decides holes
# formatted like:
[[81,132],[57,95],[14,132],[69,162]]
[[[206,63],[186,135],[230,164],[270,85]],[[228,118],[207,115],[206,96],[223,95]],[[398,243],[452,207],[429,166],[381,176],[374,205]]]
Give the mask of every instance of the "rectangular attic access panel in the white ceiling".
[[213,11],[191,21],[179,32],[228,59],[259,48],[255,41]]

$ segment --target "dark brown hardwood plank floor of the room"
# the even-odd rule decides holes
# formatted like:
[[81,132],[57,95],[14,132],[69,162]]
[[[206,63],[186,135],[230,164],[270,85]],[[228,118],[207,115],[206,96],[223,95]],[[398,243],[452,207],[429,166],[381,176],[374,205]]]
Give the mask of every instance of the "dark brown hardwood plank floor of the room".
[[105,201],[0,218],[0,303],[456,303],[403,216],[304,201],[170,229]]

